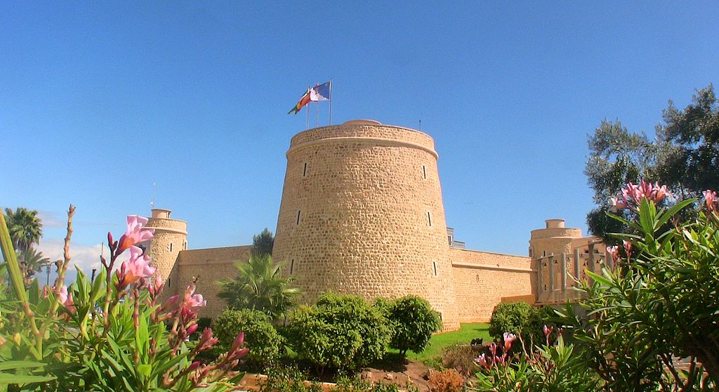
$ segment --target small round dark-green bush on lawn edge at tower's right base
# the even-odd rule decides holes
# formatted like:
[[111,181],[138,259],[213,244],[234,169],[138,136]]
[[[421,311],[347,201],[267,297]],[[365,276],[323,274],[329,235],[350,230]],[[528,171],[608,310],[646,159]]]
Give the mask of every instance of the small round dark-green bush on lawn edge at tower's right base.
[[404,296],[388,306],[388,320],[392,329],[390,347],[400,350],[404,358],[407,350],[422,352],[442,322],[429,302],[418,296]]

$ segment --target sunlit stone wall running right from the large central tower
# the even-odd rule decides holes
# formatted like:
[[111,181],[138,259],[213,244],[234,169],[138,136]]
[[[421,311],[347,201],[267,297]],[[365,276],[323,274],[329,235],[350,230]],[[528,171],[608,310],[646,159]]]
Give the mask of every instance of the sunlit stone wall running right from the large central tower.
[[450,249],[459,322],[489,322],[502,301],[534,303],[536,272],[529,257]]

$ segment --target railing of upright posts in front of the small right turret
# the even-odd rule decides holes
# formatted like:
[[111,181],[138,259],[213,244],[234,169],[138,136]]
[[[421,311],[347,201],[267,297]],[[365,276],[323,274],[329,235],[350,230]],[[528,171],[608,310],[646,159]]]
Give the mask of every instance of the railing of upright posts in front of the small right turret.
[[578,281],[590,279],[587,270],[599,272],[602,266],[613,268],[612,257],[595,251],[588,245],[588,252],[574,249],[573,254],[561,253],[534,259],[537,270],[537,303],[557,304],[580,298],[574,290]]

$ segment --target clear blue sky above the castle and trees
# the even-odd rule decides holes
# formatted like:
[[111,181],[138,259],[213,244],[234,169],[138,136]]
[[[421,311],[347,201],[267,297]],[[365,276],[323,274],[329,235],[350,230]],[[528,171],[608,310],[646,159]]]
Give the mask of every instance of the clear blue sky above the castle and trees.
[[458,240],[524,255],[544,219],[586,231],[602,119],[651,134],[719,81],[715,1],[340,3],[0,1],[0,206],[41,211],[55,257],[77,205],[83,268],[153,199],[191,248],[247,244],[277,223],[288,110],[333,78],[335,123],[421,120]]

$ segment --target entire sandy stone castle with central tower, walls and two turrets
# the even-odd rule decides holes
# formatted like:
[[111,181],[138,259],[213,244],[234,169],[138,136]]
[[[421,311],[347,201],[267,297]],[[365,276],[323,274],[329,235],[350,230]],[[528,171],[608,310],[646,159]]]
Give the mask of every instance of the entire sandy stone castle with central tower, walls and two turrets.
[[[275,231],[273,260],[296,278],[303,303],[324,291],[371,299],[416,294],[444,330],[487,322],[501,301],[551,304],[574,296],[568,278],[605,263],[595,237],[549,219],[531,232],[529,255],[464,249],[446,226],[434,140],[414,129],[354,120],[295,135]],[[226,304],[216,281],[237,275],[250,245],[188,250],[187,223],[152,209],[150,256],[169,294],[194,278],[208,298],[201,316]]]

